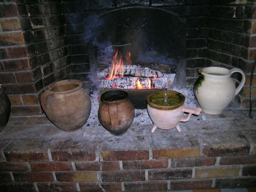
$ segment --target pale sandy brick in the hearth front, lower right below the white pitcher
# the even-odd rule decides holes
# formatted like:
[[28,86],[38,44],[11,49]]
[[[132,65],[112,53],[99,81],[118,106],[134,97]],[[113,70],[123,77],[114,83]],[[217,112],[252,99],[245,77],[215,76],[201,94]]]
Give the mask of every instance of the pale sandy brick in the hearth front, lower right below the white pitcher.
[[239,167],[196,169],[195,178],[233,177],[238,176]]

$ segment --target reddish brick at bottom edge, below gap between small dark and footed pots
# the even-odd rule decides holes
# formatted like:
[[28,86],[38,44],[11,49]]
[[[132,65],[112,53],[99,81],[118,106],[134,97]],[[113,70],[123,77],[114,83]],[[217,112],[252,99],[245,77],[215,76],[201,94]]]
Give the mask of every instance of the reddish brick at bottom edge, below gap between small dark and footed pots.
[[125,191],[163,191],[167,190],[167,182],[128,182],[124,183]]

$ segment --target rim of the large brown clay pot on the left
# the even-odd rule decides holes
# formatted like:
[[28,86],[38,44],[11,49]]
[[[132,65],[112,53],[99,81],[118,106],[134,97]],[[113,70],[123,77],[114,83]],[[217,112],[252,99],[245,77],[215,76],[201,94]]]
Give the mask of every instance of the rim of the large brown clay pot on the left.
[[[64,84],[76,84],[77,86],[75,88],[72,89],[67,89],[67,90],[62,90],[62,91],[54,91],[53,89],[59,86],[62,86]],[[68,79],[68,80],[61,80],[61,81],[57,81],[54,82],[52,84],[50,84],[48,86],[48,90],[50,90],[51,92],[54,92],[54,94],[63,94],[63,93],[68,93],[68,92],[72,92],[72,91],[76,91],[78,89],[80,89],[82,87],[82,82],[79,80],[75,80],[75,79]]]

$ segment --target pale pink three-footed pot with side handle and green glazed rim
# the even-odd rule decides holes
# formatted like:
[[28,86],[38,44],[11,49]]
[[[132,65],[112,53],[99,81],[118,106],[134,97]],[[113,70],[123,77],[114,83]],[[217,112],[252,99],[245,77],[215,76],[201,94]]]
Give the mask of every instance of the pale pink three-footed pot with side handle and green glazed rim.
[[[174,98],[178,100],[176,104],[171,105],[160,105],[152,102],[153,99],[157,98]],[[192,114],[199,115],[202,111],[201,108],[187,108],[184,106],[185,97],[183,94],[176,91],[157,91],[152,94],[149,94],[146,98],[148,106],[148,114],[154,123],[154,126],[151,130],[153,133],[156,128],[160,129],[172,129],[176,127],[178,132],[180,132],[179,122],[187,122]],[[186,118],[183,117],[183,113],[188,112]]]

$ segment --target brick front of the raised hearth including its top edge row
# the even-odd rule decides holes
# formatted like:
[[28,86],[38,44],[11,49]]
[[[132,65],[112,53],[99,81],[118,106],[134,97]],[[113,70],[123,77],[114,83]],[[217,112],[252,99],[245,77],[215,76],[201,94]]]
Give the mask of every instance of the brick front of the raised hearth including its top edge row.
[[0,189],[148,192],[256,187],[254,136],[229,132],[231,141],[222,134],[215,134],[214,143],[207,133],[4,139]]

